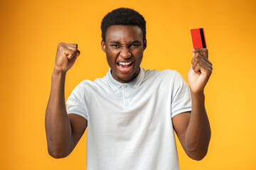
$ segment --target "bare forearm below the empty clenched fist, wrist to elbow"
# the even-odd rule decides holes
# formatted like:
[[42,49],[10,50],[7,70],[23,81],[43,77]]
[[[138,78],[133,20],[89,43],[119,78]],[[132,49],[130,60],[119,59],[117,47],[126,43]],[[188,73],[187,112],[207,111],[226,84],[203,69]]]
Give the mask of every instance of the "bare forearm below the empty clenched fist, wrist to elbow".
[[53,71],[50,98],[46,108],[46,137],[52,157],[66,157],[71,143],[71,126],[65,108],[65,72]]

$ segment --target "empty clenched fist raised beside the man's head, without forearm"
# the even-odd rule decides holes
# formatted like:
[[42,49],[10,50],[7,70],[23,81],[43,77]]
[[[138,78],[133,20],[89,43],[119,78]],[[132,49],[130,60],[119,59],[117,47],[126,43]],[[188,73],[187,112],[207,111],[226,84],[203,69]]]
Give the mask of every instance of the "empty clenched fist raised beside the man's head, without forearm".
[[73,66],[79,55],[80,51],[78,50],[77,44],[60,42],[58,44],[54,69],[59,72],[67,72]]

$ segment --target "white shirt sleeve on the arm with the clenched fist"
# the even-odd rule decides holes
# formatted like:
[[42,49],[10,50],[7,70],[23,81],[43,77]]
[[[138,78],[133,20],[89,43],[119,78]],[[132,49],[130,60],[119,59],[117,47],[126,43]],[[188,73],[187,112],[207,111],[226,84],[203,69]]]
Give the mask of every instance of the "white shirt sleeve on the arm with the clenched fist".
[[83,84],[81,82],[72,91],[66,102],[67,113],[74,113],[76,115],[80,115],[82,116],[82,118],[85,118],[87,120],[87,111],[85,108],[85,93],[83,89]]

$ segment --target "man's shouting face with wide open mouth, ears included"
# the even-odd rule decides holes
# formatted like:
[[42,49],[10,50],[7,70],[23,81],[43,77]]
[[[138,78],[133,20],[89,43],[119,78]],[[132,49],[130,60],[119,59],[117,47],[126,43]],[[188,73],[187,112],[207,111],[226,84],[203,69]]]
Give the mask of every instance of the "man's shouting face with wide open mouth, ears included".
[[107,28],[102,50],[106,52],[112,77],[121,82],[132,81],[139,74],[146,40],[138,26],[110,26]]

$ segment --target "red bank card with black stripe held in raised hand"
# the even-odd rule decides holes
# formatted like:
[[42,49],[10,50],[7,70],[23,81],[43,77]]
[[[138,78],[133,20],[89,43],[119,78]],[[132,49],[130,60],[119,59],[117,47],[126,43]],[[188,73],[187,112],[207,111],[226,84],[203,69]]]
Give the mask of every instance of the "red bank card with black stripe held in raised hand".
[[193,48],[206,48],[206,38],[203,28],[191,29]]

